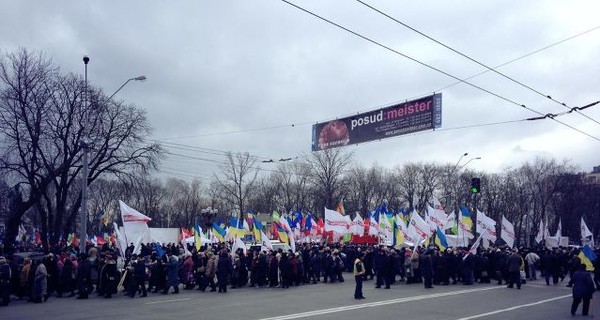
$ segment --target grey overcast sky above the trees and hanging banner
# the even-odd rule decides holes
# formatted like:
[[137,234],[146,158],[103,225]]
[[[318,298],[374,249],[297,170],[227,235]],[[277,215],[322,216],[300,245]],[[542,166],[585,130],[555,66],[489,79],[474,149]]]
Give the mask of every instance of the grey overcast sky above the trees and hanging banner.
[[[356,1],[293,3],[451,76],[484,67]],[[365,1],[411,27],[568,107],[600,100],[600,2]],[[334,27],[279,0],[0,0],[0,48],[45,52],[65,72],[83,74],[115,99],[147,110],[152,139],[167,149],[167,176],[210,177],[219,151],[259,160],[311,151],[316,122],[442,93],[435,132],[347,146],[365,166],[414,161],[500,172],[536,156],[600,165],[600,105],[557,117],[497,125],[568,108],[488,72],[467,84]],[[442,89],[443,88],[443,89]],[[508,101],[511,102],[508,102]],[[512,103],[514,102],[514,103]],[[571,128],[569,128],[570,126]],[[582,131],[584,133],[578,132]],[[590,137],[591,136],[591,137]],[[207,148],[207,149],[197,149]],[[194,149],[194,150],[191,150]],[[190,159],[194,158],[194,159]],[[207,161],[208,160],[208,161]],[[276,164],[261,164],[275,168]],[[269,167],[271,166],[271,167]]]

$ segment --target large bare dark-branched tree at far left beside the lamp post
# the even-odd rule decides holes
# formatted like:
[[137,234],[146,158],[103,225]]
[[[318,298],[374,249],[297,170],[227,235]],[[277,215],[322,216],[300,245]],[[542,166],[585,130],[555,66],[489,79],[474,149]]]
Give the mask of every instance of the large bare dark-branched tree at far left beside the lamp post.
[[[106,101],[94,90],[92,103],[84,104],[81,77],[61,74],[42,54],[23,49],[3,55],[0,85],[2,147],[8,155],[0,169],[26,193],[9,218],[9,235],[36,204],[43,238],[50,233],[56,243],[62,230],[72,229],[81,205],[85,136],[91,143],[88,184],[103,175],[152,169],[159,159],[159,146],[144,145],[150,128],[143,111]],[[6,244],[10,248],[12,241]]]

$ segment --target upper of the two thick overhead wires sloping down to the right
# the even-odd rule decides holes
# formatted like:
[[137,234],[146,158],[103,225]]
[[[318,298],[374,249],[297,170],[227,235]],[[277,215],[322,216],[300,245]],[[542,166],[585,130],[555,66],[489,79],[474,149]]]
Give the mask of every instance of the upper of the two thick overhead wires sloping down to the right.
[[[526,85],[526,84],[524,84],[523,82],[521,82],[521,81],[519,81],[519,80],[517,80],[517,79],[515,79],[515,78],[513,78],[513,77],[510,77],[510,76],[508,76],[508,75],[506,75],[506,74],[504,74],[504,73],[502,73],[502,72],[500,72],[500,71],[496,70],[496,68],[492,68],[492,67],[490,67],[490,66],[488,66],[488,65],[484,64],[483,62],[480,62],[479,60],[476,60],[476,59],[474,59],[474,58],[470,57],[469,55],[467,55],[467,54],[464,54],[464,53],[462,53],[461,51],[458,51],[458,50],[456,50],[456,49],[454,49],[454,48],[452,48],[452,47],[450,47],[450,46],[446,45],[445,43],[443,43],[443,42],[441,42],[441,41],[439,41],[439,40],[437,40],[437,39],[435,39],[435,38],[433,38],[433,37],[431,37],[431,36],[429,36],[429,35],[427,35],[427,34],[425,34],[425,33],[421,32],[421,31],[419,31],[419,30],[417,30],[417,29],[415,29],[415,28],[411,27],[410,25],[408,25],[408,24],[406,24],[406,23],[404,23],[404,22],[402,22],[402,21],[400,21],[400,20],[398,20],[398,19],[396,19],[396,18],[394,18],[394,17],[390,16],[389,14],[387,14],[387,13],[385,13],[385,12],[381,11],[380,9],[377,9],[377,8],[373,7],[372,5],[370,5],[370,4],[368,4],[368,3],[364,2],[364,1],[361,1],[361,0],[356,0],[356,1],[357,1],[358,3],[360,3],[360,4],[362,4],[363,6],[365,6],[365,7],[369,8],[369,9],[371,9],[371,10],[373,10],[373,11],[375,11],[375,12],[377,12],[377,13],[381,14],[381,15],[383,15],[384,17],[386,17],[386,18],[388,18],[388,19],[390,19],[390,20],[392,20],[392,21],[396,22],[397,24],[399,24],[399,25],[401,25],[401,26],[403,26],[403,27],[405,27],[405,28],[408,28],[408,29],[410,29],[410,30],[412,30],[412,31],[414,31],[414,32],[416,32],[416,33],[418,33],[419,35],[421,35],[421,36],[423,36],[423,37],[425,37],[425,38],[427,38],[427,39],[429,39],[429,40],[431,40],[431,41],[433,41],[433,42],[435,42],[435,43],[437,43],[437,44],[441,45],[442,47],[444,47],[444,48],[446,48],[446,49],[448,49],[448,50],[450,50],[450,51],[452,51],[452,52],[454,52],[454,53],[456,53],[456,54],[460,55],[461,57],[463,57],[463,58],[466,58],[466,59],[468,59],[468,60],[470,60],[470,61],[472,61],[472,62],[474,62],[474,63],[476,63],[476,64],[478,64],[478,65],[480,65],[480,66],[482,66],[482,67],[484,67],[484,68],[486,68],[486,69],[487,69],[487,71],[494,72],[494,73],[496,73],[497,75],[499,75],[499,76],[501,76],[501,77],[503,77],[503,78],[505,78],[505,79],[507,79],[507,80],[509,80],[509,81],[512,81],[512,82],[514,82],[514,83],[516,83],[516,84],[518,84],[518,85],[520,85],[520,86],[522,86],[522,87],[524,87],[524,88],[527,88],[528,90],[530,90],[530,91],[532,91],[532,92],[534,92],[534,93],[536,93],[536,94],[538,94],[538,95],[540,95],[540,96],[542,96],[542,97],[544,97],[544,98],[550,99],[550,100],[552,100],[553,102],[555,102],[555,103],[557,103],[557,104],[559,104],[559,105],[561,105],[561,106],[563,106],[563,107],[565,107],[565,108],[567,108],[567,109],[569,109],[569,110],[573,110],[573,109],[572,109],[572,108],[570,108],[570,107],[569,107],[569,106],[568,106],[566,103],[564,103],[564,102],[561,102],[561,101],[558,101],[558,100],[556,100],[556,99],[552,98],[552,96],[550,96],[549,94],[542,93],[541,91],[539,91],[539,90],[536,90],[536,89],[532,88],[531,86],[529,86],[529,85]],[[594,30],[597,30],[597,29],[600,29],[600,26],[596,26],[596,27],[594,27],[594,28],[592,28],[592,29],[589,29],[589,30],[585,31],[584,33],[591,32],[591,31],[594,31]],[[595,122],[595,123],[597,123],[597,124],[600,124],[600,122],[598,122],[598,121],[596,121],[595,119],[593,119],[593,118],[591,118],[591,117],[587,116],[587,115],[586,115],[586,114],[584,114],[584,113],[581,113],[581,112],[579,112],[579,110],[573,110],[573,111],[576,111],[576,112],[577,112],[577,113],[579,113],[580,115],[582,115],[582,116],[584,116],[584,117],[588,118],[589,120],[592,120],[592,121],[594,121],[594,122]]]

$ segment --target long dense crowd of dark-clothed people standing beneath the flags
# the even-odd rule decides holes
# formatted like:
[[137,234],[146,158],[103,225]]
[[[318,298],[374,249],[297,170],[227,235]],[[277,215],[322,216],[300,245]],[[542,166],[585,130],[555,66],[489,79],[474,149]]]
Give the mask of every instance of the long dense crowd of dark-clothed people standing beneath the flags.
[[[374,280],[375,288],[383,289],[398,284],[422,283],[430,289],[476,282],[520,289],[523,282],[536,280],[538,275],[546,285],[557,285],[568,277],[567,286],[581,287],[577,283],[581,276],[576,275],[582,266],[579,251],[566,248],[490,247],[469,254],[466,248],[439,250],[430,246],[412,250],[306,243],[297,252],[245,248],[232,252],[226,243],[205,246],[200,251],[182,244],[149,244],[142,245],[138,254],[133,253],[131,245],[124,255],[109,245],[87,249],[87,253],[78,253],[77,248],[63,248],[40,259],[26,257],[22,261],[18,255],[0,257],[1,304],[8,305],[11,297],[42,303],[50,297],[88,299],[91,294],[111,298],[123,293],[134,298],[148,293],[177,294],[180,289],[219,293],[246,286],[287,289],[344,282],[345,272],[360,277],[361,286],[362,280]],[[600,266],[596,266],[592,293],[600,290],[599,272]],[[591,298],[588,291],[585,297]],[[359,295],[355,298],[364,298],[362,291]],[[586,301],[589,306],[589,299],[579,301],[584,302],[584,309]]]

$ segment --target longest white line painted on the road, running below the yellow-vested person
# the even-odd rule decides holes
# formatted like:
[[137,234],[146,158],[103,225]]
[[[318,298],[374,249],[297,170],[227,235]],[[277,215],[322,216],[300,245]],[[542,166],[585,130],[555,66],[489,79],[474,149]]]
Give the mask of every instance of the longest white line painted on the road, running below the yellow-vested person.
[[344,307],[288,314],[288,315],[284,315],[284,316],[263,318],[260,320],[290,320],[290,319],[298,319],[298,318],[307,318],[307,317],[336,313],[336,312],[344,312],[344,311],[364,309],[364,308],[373,308],[373,307],[384,306],[384,305],[388,305],[388,304],[434,299],[434,298],[455,296],[455,295],[464,294],[464,293],[480,292],[480,291],[494,290],[494,289],[500,289],[500,288],[504,288],[504,287],[486,287],[486,288],[478,288],[478,289],[459,290],[459,291],[453,291],[453,292],[426,294],[426,295],[421,295],[421,296],[406,297],[406,298],[399,298],[399,299],[392,299],[392,300],[363,303],[363,304],[358,304],[358,305],[351,305],[351,306],[344,306]]

